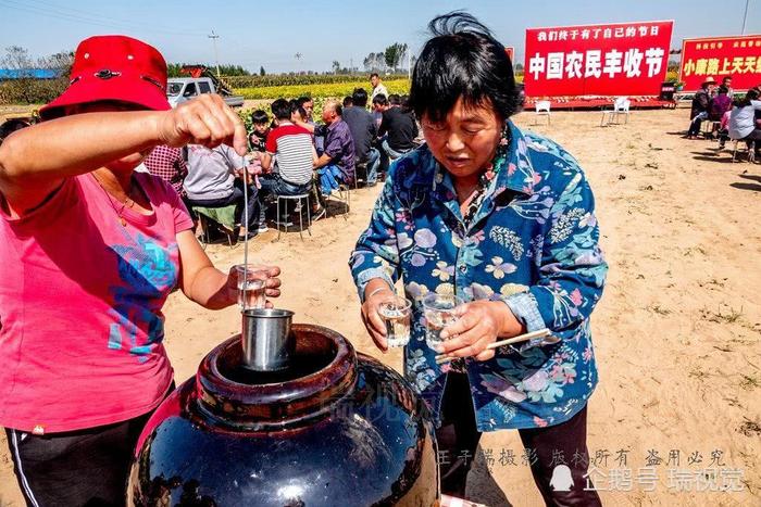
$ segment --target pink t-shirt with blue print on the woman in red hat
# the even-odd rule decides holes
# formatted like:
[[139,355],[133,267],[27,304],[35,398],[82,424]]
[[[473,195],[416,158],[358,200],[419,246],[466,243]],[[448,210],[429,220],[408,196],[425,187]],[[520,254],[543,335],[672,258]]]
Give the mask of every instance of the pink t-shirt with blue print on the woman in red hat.
[[[172,382],[161,308],[177,286],[177,192],[135,173],[153,213],[122,211],[91,174],[40,207],[0,211],[0,426],[50,433],[153,409]],[[1,197],[0,197],[1,199]]]

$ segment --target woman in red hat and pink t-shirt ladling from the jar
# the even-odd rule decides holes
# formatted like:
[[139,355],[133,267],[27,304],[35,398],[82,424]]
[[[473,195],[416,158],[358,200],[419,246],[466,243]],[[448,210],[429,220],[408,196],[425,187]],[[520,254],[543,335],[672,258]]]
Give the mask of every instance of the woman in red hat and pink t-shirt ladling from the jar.
[[134,169],[161,144],[244,155],[246,129],[215,94],[171,110],[164,59],[129,37],[84,40],[71,78],[0,145],[0,426],[28,505],[123,505],[136,439],[173,385],[167,295],[237,300],[177,192]]

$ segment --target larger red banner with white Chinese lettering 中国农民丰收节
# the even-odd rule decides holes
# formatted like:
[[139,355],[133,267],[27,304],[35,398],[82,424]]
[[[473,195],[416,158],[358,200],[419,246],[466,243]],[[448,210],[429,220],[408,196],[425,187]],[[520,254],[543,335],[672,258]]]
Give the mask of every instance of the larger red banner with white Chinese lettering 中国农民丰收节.
[[659,21],[528,28],[526,94],[657,96],[673,25]]

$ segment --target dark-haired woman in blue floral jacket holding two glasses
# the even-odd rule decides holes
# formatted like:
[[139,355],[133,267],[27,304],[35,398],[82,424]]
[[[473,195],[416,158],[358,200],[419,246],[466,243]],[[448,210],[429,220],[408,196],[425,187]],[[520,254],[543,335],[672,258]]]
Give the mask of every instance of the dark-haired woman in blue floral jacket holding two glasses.
[[[515,428],[548,505],[599,505],[584,478],[597,383],[589,315],[607,271],[591,190],[573,156],[508,119],[512,65],[488,29],[462,13],[429,27],[410,94],[426,144],[391,167],[350,259],[362,316],[386,350],[377,308],[401,277],[413,301],[404,370],[439,427],[445,493],[464,494],[481,432]],[[442,331],[452,366],[425,343],[428,292],[466,302]],[[486,348],[542,328],[561,341]],[[560,464],[570,491],[550,486]]]

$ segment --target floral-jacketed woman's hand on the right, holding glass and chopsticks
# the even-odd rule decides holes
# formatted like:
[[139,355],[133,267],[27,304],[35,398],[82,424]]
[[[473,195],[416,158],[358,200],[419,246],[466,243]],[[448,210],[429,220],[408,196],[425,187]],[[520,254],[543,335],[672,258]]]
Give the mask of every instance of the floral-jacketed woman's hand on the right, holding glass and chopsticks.
[[494,350],[486,348],[489,343],[525,332],[523,325],[501,301],[465,303],[454,313],[459,319],[441,331],[445,339],[441,353],[449,357],[472,356],[476,360],[488,360],[495,356]]

